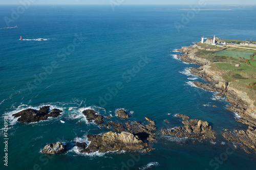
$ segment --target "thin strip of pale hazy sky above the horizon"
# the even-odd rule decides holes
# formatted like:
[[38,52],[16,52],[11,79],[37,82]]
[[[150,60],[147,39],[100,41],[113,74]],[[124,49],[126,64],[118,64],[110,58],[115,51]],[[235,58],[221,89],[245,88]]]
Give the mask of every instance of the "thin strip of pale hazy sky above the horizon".
[[0,0],[2,4],[20,4],[20,1],[31,1],[32,4],[198,4],[199,1],[206,1],[207,4],[225,5],[256,5],[255,0]]

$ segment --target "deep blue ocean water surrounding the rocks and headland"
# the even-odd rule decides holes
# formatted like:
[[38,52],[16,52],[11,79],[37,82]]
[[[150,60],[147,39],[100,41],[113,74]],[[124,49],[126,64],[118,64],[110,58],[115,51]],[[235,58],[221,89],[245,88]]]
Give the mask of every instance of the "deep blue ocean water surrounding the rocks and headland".
[[[175,58],[177,48],[192,45],[203,35],[255,40],[255,8],[207,6],[233,11],[200,11],[187,22],[182,18],[188,11],[154,8],[190,7],[120,5],[113,11],[111,6],[30,6],[9,25],[2,19],[1,125],[3,116],[9,116],[10,124],[9,164],[5,167],[1,160],[1,169],[255,169],[255,154],[240,149],[225,161],[215,160],[229,147],[220,131],[245,126],[225,109],[228,103],[191,85],[194,80],[188,78],[203,81],[187,74],[197,65]],[[11,18],[17,6],[0,9],[0,18]],[[177,29],[179,23],[183,26]],[[10,28],[14,26],[18,28]],[[20,36],[26,40],[20,41]],[[62,115],[33,124],[18,123],[11,116],[45,105],[63,110]],[[47,143],[86,141],[88,134],[108,131],[86,121],[82,115],[86,108],[113,116],[116,122],[122,120],[115,110],[124,108],[132,121],[145,123],[145,116],[156,120],[158,130],[182,125],[174,116],[182,113],[209,122],[219,137],[215,144],[192,144],[160,135],[153,143],[155,150],[139,156],[83,155],[75,149],[42,155]],[[3,142],[3,158],[2,148]]]

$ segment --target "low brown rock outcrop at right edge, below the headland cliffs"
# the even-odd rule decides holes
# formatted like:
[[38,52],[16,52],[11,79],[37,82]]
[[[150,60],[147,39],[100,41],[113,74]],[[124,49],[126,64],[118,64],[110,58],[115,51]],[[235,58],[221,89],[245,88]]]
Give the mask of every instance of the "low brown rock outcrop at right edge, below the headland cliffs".
[[240,145],[247,153],[250,153],[248,149],[256,152],[256,130],[252,127],[247,130],[234,131],[233,133],[226,131],[222,133],[222,136],[227,141]]

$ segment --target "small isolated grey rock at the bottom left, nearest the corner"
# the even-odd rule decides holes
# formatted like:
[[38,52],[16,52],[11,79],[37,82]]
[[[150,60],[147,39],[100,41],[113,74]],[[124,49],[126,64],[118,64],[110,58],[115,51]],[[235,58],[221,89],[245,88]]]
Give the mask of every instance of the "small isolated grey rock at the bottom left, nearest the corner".
[[44,154],[61,154],[63,152],[67,151],[66,145],[63,145],[60,141],[57,143],[49,143],[45,146],[45,148],[42,150],[42,153]]

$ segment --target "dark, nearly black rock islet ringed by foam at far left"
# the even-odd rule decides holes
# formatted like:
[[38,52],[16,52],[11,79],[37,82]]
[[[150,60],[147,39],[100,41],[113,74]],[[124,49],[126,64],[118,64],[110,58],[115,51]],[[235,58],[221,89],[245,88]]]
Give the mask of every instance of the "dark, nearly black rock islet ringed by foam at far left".
[[48,117],[58,117],[62,112],[59,109],[53,109],[50,113],[50,106],[41,107],[39,110],[26,109],[13,114],[14,117],[19,117],[18,122],[39,122],[40,120],[47,120]]

